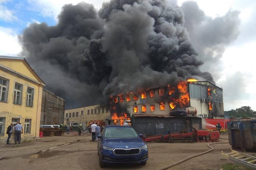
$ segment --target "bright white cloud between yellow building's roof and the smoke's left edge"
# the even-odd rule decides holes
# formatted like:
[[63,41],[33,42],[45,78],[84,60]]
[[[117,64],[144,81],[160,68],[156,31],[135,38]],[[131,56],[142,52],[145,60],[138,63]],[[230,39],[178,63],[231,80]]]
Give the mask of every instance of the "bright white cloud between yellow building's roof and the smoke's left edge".
[[0,55],[17,56],[22,50],[18,36],[11,28],[0,27]]

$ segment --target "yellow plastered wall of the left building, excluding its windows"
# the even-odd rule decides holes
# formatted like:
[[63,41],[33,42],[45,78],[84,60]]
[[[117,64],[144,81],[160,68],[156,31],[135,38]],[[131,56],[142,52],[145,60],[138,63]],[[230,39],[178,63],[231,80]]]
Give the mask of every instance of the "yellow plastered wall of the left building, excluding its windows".
[[[42,99],[42,87],[45,84],[38,79],[31,67],[25,60],[0,59],[0,77],[8,80],[7,101],[0,102],[0,117],[4,118],[4,134],[0,135],[0,140],[6,139],[7,127],[12,122],[12,118],[18,118],[24,128],[25,119],[31,119],[30,133],[24,133],[22,138],[39,136],[40,111]],[[21,104],[14,104],[15,83],[22,84]],[[33,106],[26,106],[27,88],[33,88]]]

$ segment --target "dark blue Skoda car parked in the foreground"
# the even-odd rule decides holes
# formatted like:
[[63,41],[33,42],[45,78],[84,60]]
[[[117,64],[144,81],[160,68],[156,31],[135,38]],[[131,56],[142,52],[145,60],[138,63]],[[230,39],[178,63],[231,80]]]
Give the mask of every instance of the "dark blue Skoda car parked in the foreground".
[[[143,136],[140,134],[140,136]],[[100,167],[112,163],[141,163],[146,165],[148,149],[146,143],[130,126],[106,126],[98,135]]]

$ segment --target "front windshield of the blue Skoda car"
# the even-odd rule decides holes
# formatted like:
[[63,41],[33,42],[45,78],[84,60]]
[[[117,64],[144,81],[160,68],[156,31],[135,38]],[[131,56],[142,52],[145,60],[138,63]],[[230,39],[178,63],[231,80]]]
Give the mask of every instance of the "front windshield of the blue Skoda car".
[[106,128],[105,138],[135,138],[138,137],[133,128],[113,127]]

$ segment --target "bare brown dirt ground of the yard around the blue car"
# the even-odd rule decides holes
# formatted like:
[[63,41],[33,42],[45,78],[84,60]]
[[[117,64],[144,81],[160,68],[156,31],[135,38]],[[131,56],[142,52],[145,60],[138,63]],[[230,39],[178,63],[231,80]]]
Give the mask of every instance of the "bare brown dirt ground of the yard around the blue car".
[[[40,150],[47,150],[54,146],[46,146],[40,148],[31,148],[23,150],[3,151],[15,148],[27,148],[56,143],[65,143],[80,141],[71,145],[62,146],[51,151],[37,155],[27,155],[8,160],[0,160],[0,169],[101,169],[99,166],[99,157],[97,154],[97,142],[81,142],[90,139],[91,136],[78,136],[74,134],[44,137],[41,139],[33,139],[22,141],[20,145],[11,145],[0,143],[0,158],[4,156],[13,156],[21,154],[31,154]],[[221,135],[221,138],[227,138],[227,135]],[[220,142],[228,142],[228,140],[220,140]],[[165,143],[151,142],[147,143],[149,151],[149,159],[145,166],[140,164],[118,164],[109,165],[104,169],[158,169],[160,167],[172,164],[182,160],[185,157],[204,152],[208,150],[208,142],[194,143]],[[221,165],[232,163],[228,158],[221,155],[221,151],[228,153],[230,151],[229,144],[215,144],[214,151],[205,155],[192,158],[184,163],[176,165],[169,169],[219,169]]]

